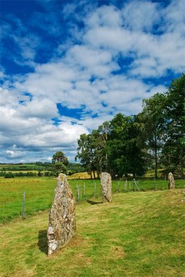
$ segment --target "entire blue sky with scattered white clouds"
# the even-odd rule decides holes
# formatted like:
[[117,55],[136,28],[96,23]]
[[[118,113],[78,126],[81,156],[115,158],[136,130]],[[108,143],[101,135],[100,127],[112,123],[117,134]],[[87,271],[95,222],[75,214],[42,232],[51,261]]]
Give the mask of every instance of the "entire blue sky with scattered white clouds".
[[1,0],[0,163],[77,139],[185,70],[185,0]]

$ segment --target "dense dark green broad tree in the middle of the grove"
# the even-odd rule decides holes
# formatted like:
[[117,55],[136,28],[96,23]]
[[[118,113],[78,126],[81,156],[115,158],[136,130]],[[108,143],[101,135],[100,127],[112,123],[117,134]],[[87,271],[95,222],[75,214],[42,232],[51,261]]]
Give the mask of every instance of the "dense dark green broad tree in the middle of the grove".
[[138,146],[136,117],[117,114],[110,122],[109,165],[112,175],[143,175],[143,152]]

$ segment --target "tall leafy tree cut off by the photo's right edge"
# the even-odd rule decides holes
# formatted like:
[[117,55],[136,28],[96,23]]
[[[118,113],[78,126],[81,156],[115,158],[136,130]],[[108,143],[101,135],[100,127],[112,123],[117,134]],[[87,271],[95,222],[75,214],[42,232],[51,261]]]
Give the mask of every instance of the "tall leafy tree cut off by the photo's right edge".
[[166,92],[166,138],[162,152],[162,160],[168,170],[184,175],[184,100],[185,74],[173,80]]

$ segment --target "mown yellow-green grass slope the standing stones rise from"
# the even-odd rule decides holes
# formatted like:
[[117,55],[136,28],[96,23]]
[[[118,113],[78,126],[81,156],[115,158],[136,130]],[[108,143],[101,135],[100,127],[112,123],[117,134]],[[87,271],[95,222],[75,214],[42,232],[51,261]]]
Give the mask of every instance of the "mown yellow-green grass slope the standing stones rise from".
[[[77,235],[48,258],[48,212],[1,225],[1,277],[184,276],[181,190],[79,202]],[[184,201],[182,201],[184,200]]]

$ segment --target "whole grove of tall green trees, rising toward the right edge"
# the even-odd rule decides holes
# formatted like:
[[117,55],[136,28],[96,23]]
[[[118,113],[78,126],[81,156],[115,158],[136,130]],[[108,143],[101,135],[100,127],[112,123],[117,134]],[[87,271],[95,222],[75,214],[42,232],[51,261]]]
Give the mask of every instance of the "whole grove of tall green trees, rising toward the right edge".
[[91,134],[78,139],[76,160],[89,173],[110,172],[121,177],[165,168],[184,176],[185,74],[173,80],[166,93],[143,100],[141,113],[116,114]]

